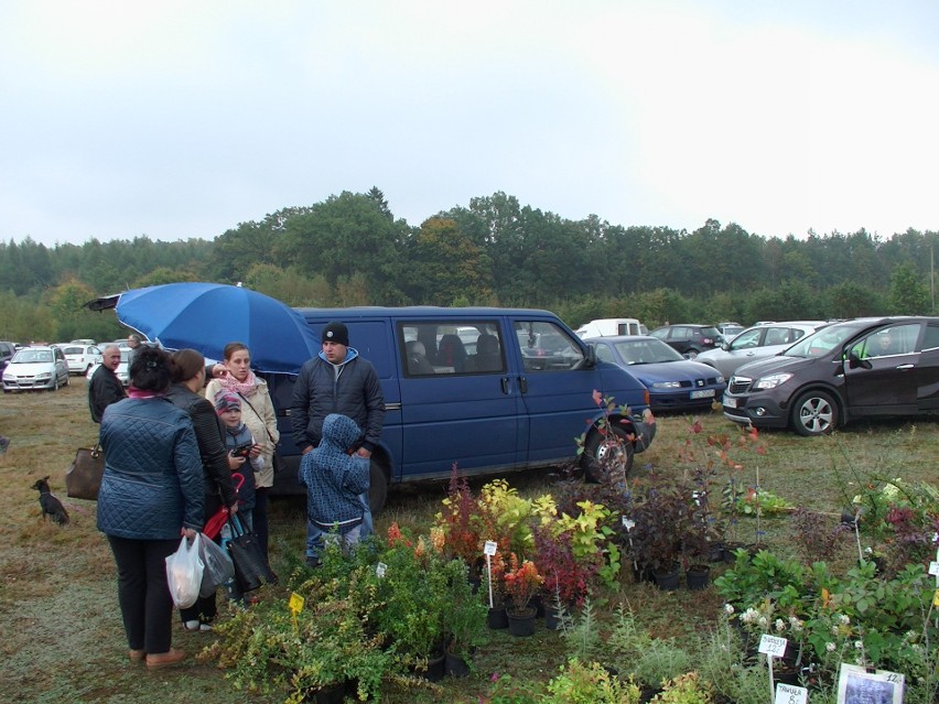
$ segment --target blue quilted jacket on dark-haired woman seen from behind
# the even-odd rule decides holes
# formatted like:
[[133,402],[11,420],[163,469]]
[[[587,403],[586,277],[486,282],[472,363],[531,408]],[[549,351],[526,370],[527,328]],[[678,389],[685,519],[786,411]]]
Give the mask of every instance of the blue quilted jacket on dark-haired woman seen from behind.
[[165,397],[125,399],[101,419],[105,476],[98,530],[172,540],[203,527],[203,470],[188,414]]

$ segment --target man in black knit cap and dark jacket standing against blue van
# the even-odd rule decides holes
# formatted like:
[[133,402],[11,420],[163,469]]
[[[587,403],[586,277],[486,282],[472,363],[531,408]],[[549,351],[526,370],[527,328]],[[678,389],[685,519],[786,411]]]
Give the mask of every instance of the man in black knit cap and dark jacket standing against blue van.
[[[304,455],[320,444],[323,421],[330,413],[341,413],[355,421],[363,434],[348,447],[349,454],[370,457],[378,444],[385,422],[385,397],[378,372],[370,361],[349,347],[349,331],[343,323],[330,323],[323,328],[323,348],[300,369],[293,385],[290,426],[294,444]],[[371,511],[368,494],[365,505],[363,537],[371,532]],[[319,563],[323,531],[306,521],[306,563]]]

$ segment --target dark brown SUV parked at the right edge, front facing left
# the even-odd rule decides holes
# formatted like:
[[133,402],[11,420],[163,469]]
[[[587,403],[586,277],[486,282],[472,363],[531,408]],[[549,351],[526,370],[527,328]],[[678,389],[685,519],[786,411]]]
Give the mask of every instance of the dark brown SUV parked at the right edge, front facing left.
[[939,412],[939,317],[828,325],[780,355],[742,366],[724,415],[823,435],[860,418]]

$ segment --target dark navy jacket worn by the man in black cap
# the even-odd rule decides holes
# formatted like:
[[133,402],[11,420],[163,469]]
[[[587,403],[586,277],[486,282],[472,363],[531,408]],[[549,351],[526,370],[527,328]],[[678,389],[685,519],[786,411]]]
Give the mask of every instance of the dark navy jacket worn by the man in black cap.
[[341,365],[333,365],[321,351],[300,369],[290,407],[290,427],[299,450],[320,444],[323,420],[330,413],[347,415],[363,430],[356,447],[375,450],[385,424],[385,397],[375,367],[352,347]]

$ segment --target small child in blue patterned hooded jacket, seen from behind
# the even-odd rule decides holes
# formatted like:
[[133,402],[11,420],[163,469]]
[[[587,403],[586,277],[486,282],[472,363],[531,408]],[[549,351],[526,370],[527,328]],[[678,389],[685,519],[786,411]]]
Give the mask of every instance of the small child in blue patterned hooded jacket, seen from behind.
[[352,452],[360,436],[355,421],[331,413],[323,421],[320,445],[300,461],[309,519],[327,539],[338,535],[346,550],[359,541],[365,512],[359,496],[368,491],[369,461]]

